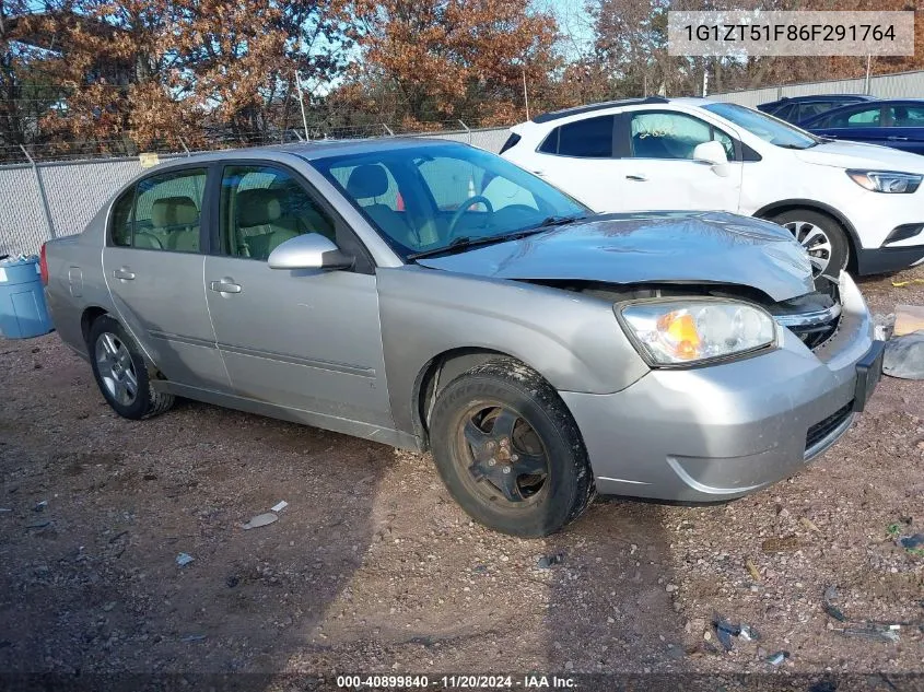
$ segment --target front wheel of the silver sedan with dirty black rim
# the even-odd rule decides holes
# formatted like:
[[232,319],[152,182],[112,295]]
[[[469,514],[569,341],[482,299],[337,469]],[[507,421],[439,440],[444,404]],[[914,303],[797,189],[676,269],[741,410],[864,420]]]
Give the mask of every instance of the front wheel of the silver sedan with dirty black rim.
[[452,496],[496,531],[554,533],[596,494],[571,413],[551,385],[513,359],[491,360],[451,382],[436,398],[430,438]]

